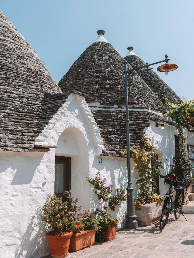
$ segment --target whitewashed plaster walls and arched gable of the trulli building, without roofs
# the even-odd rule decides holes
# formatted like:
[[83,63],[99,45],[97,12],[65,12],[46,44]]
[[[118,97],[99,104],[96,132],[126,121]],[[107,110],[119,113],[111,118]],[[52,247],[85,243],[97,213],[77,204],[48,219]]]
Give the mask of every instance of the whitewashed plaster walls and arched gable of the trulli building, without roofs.
[[[164,164],[162,174],[170,171],[172,156],[175,151],[172,126],[165,125],[164,130],[150,121],[145,128],[145,136],[159,150]],[[188,144],[194,145],[192,133],[188,135]],[[82,209],[93,211],[101,208],[93,187],[85,180],[95,177],[98,171],[107,184],[126,189],[127,160],[100,156],[103,142],[99,128],[92,116],[85,99],[77,94],[70,94],[67,101],[45,126],[35,144],[53,146],[48,152],[0,152],[0,193],[3,228],[0,243],[0,257],[38,258],[49,254],[45,240],[45,223],[40,213],[47,193],[54,192],[55,156],[71,158],[71,190],[79,198]],[[54,148],[55,147],[55,148]],[[136,184],[138,173],[131,159],[132,184],[134,197],[139,194]],[[160,194],[165,194],[163,180],[160,180]],[[119,220],[119,227],[124,227],[126,202],[111,212]]]

